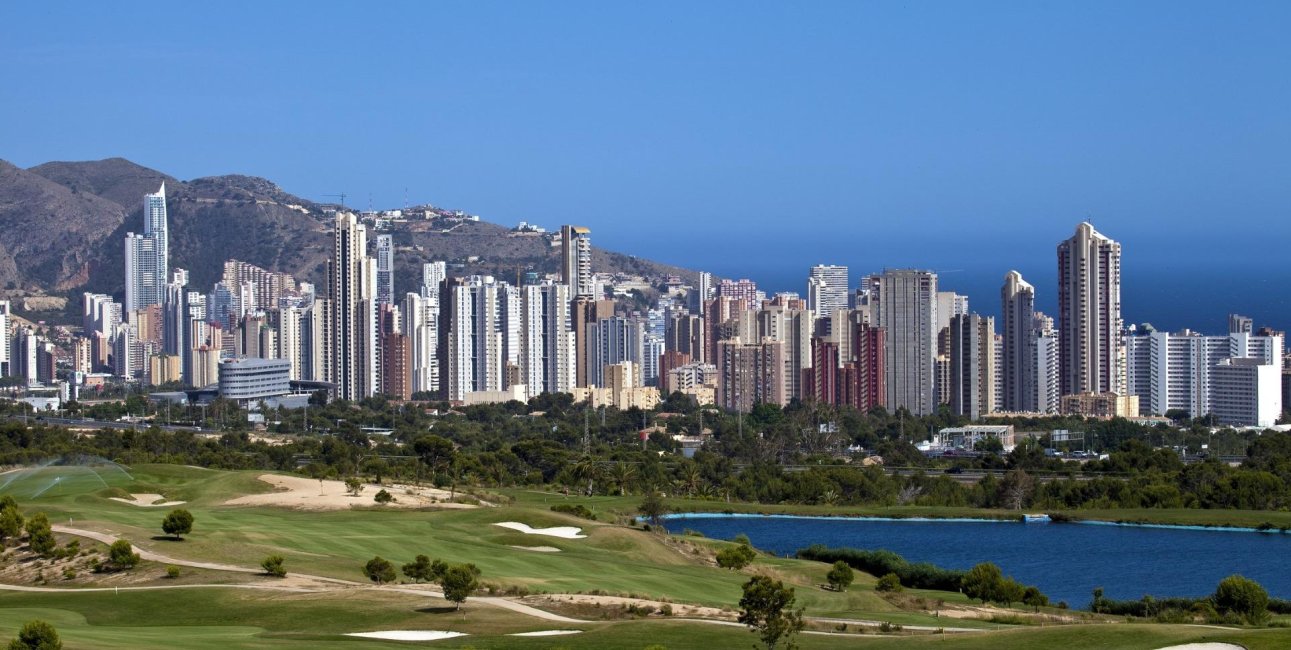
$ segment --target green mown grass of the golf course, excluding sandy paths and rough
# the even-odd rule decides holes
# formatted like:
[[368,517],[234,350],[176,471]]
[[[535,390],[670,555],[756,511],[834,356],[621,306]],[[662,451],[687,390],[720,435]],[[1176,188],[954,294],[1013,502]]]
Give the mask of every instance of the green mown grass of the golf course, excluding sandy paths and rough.
[[[13,481],[0,477],[0,494],[14,495],[26,509],[41,509],[56,522],[68,518],[76,526],[125,535],[137,544],[187,560],[207,560],[254,566],[269,553],[288,558],[288,570],[361,580],[360,565],[373,554],[405,562],[417,553],[451,562],[475,562],[485,580],[503,585],[528,585],[534,591],[568,592],[603,589],[643,597],[670,598],[732,607],[745,574],[724,571],[678,552],[657,536],[617,526],[599,525],[551,513],[549,507],[565,499],[537,492],[514,491],[516,505],[478,510],[394,512],[359,509],[306,513],[272,508],[230,508],[227,499],[266,491],[258,473],[212,472],[174,465],[148,465],[130,470],[128,477],[115,469],[49,468],[21,474]],[[54,481],[57,478],[58,481]],[[105,487],[107,486],[107,487]],[[137,508],[105,498],[108,494],[160,492],[172,500],[188,501],[194,512],[194,535],[182,541],[152,540],[160,534],[165,509]],[[41,492],[43,491],[43,492]],[[36,492],[41,492],[39,498]],[[630,510],[636,499],[569,499],[598,510]],[[724,505],[724,504],[723,504]],[[537,538],[493,526],[498,521],[523,521],[533,526],[574,525],[590,534],[582,540]],[[534,553],[511,545],[553,545],[560,553]],[[700,545],[714,545],[701,541]],[[799,600],[811,615],[891,620],[902,624],[949,624],[922,614],[895,611],[873,591],[873,579],[859,575],[847,593],[828,592],[826,567],[820,563],[784,558],[760,558],[764,571],[772,571],[797,585]],[[263,579],[261,579],[263,580]],[[958,594],[937,593],[948,601]],[[343,602],[341,600],[343,598]],[[272,606],[266,606],[271,601]],[[469,607],[465,622],[452,613],[435,613],[443,601],[372,591],[342,594],[265,594],[223,589],[123,592],[115,596],[85,593],[0,593],[0,631],[12,632],[30,618],[57,619],[68,640],[96,647],[163,647],[173,645],[174,632],[165,627],[183,625],[186,647],[265,647],[278,645],[325,645],[365,647],[385,645],[334,634],[368,629],[463,629],[473,632],[461,641],[436,645],[476,647],[547,647],[550,638],[522,640],[489,634],[522,629],[568,627],[484,607]],[[430,611],[427,611],[427,606]],[[39,607],[41,611],[28,611]],[[421,611],[418,611],[421,610]],[[159,620],[156,613],[167,613]],[[940,623],[939,623],[940,622]],[[957,622],[958,627],[986,625]],[[454,627],[457,625],[457,627]],[[1064,637],[1062,634],[1068,634]],[[1011,647],[1056,647],[1061,638],[1087,637],[1088,645],[1108,647],[1159,647],[1174,640],[1195,640],[1215,631],[1159,625],[1064,627],[1057,631],[1026,628],[1008,632]],[[324,634],[324,636],[319,636]],[[479,636],[484,634],[484,636]],[[1259,647],[1264,632],[1251,638]],[[1291,633],[1276,634],[1291,645]],[[997,634],[990,634],[994,638]],[[589,632],[562,637],[567,647],[643,647],[662,642],[673,647],[731,646],[749,644],[751,634],[738,628],[700,625],[667,620],[608,623],[589,627]],[[192,642],[188,642],[188,641]],[[323,642],[325,640],[325,642]],[[840,637],[804,637],[804,647],[843,644]],[[864,640],[866,645],[888,641]],[[902,646],[930,642],[928,638],[893,640]],[[998,646],[1001,641],[991,642]],[[985,647],[985,641],[948,638],[946,647]],[[1272,647],[1272,645],[1269,646]]]

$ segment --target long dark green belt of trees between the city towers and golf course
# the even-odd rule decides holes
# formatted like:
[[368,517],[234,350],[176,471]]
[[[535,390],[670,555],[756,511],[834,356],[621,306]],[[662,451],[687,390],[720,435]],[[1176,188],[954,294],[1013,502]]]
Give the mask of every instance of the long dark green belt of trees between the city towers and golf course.
[[[132,406],[146,407],[146,401]],[[0,404],[0,412],[15,408],[21,410]],[[208,419],[209,412],[223,408],[219,403],[207,407]],[[657,417],[664,411],[669,416]],[[198,407],[177,408],[172,419],[200,419],[198,412]],[[652,419],[657,430],[642,445],[638,432]],[[584,404],[562,394],[540,395],[527,404],[456,410],[371,398],[319,401],[307,414],[271,410],[267,420],[270,430],[302,435],[285,445],[269,445],[238,425],[238,430],[218,438],[158,428],[106,429],[80,437],[39,421],[6,421],[0,423],[0,463],[106,457],[125,464],[278,470],[296,470],[303,463],[303,472],[315,477],[400,478],[440,487],[564,486],[584,494],[661,491],[695,499],[825,505],[1291,507],[1291,434],[1225,430],[1212,435],[1199,424],[1148,428],[1127,420],[1066,417],[1013,423],[1021,430],[1084,430],[1091,448],[1109,452],[1105,460],[1078,465],[1046,456],[1050,442],[1044,437],[1026,441],[1010,454],[927,459],[913,442],[931,429],[963,424],[962,419],[946,412],[915,417],[882,408],[862,414],[797,402],[782,408],[759,404],[751,414],[737,416],[696,408],[680,395],[671,395],[658,412],[587,412]],[[584,428],[589,421],[591,445],[585,447]],[[389,428],[394,434],[372,439],[363,433],[364,426]],[[670,434],[700,428],[714,432],[713,442],[693,459],[675,454],[678,446]],[[1237,468],[1217,459],[1184,464],[1175,451],[1153,447],[1161,443],[1189,450],[1202,445],[1226,447],[1247,457]],[[884,467],[859,467],[847,452],[855,445],[865,447],[865,454],[882,456],[887,468],[909,470],[897,476]],[[963,485],[944,474],[946,469],[993,473],[975,485]]]

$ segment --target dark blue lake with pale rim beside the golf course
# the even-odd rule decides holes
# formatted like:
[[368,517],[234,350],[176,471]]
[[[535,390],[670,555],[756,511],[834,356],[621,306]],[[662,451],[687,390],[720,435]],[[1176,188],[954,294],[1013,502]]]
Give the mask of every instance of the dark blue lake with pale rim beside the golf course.
[[793,554],[812,544],[887,549],[910,562],[968,569],[994,562],[1052,602],[1087,609],[1091,593],[1137,600],[1144,594],[1208,596],[1232,574],[1291,598],[1291,535],[1242,530],[1100,523],[1022,523],[982,519],[883,519],[760,514],[674,514],[666,527],[714,539],[745,534],[753,545]]

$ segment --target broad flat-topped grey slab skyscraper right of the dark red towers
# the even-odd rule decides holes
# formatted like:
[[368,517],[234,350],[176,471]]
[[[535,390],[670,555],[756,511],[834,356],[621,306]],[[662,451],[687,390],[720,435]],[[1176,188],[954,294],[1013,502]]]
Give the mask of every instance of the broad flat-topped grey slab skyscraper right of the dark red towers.
[[870,300],[886,332],[887,407],[914,415],[936,410],[933,366],[937,355],[937,274],[914,269],[871,277]]

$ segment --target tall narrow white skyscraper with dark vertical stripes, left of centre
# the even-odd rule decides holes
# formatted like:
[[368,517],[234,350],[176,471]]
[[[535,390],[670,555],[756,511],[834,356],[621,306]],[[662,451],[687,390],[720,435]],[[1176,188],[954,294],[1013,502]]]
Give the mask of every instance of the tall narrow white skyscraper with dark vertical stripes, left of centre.
[[377,389],[376,264],[368,257],[368,229],[350,212],[336,216],[328,264],[332,362],[327,379],[340,399],[361,399]]

